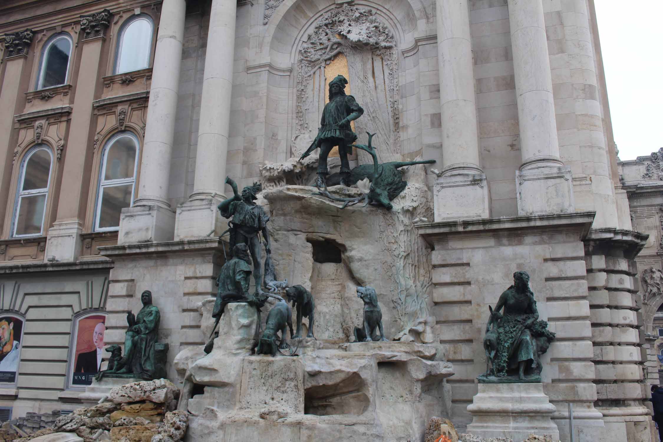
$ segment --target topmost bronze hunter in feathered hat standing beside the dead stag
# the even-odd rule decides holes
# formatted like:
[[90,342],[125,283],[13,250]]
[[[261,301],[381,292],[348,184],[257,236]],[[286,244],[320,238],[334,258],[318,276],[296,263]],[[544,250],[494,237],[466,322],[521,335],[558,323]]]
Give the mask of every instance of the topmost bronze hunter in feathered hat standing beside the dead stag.
[[318,188],[326,187],[327,157],[333,146],[338,146],[338,154],[341,158],[341,185],[348,186],[350,176],[350,164],[347,160],[351,153],[351,144],[357,140],[357,134],[350,127],[350,122],[361,117],[364,109],[361,108],[355,97],[345,95],[347,80],[342,75],[336,76],[330,82],[330,101],[325,105],[320,119],[320,130],[318,136],[311,146],[304,152],[300,160],[303,160],[317,148],[320,148],[320,159],[318,160]]

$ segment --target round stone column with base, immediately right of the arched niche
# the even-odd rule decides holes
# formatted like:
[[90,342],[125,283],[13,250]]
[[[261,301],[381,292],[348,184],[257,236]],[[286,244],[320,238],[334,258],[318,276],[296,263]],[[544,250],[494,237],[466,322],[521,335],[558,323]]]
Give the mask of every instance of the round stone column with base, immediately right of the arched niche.
[[467,0],[437,0],[437,10],[444,169],[435,182],[435,221],[487,218]]

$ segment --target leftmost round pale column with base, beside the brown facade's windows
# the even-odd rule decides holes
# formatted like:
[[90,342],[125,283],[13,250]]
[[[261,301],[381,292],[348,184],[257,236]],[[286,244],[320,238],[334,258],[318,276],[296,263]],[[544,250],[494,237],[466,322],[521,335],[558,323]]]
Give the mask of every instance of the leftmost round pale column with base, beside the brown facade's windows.
[[168,202],[186,0],[164,0],[156,38],[138,198],[123,209],[118,244],[172,240]]

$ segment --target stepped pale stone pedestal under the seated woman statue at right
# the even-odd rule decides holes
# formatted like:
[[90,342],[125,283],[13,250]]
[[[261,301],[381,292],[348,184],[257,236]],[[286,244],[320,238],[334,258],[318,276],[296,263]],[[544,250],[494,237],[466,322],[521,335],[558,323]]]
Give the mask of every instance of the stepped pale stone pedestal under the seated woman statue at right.
[[521,442],[535,434],[560,439],[560,431],[550,419],[555,406],[548,402],[543,384],[479,384],[479,393],[467,411],[473,417],[467,433],[483,438],[510,437]]

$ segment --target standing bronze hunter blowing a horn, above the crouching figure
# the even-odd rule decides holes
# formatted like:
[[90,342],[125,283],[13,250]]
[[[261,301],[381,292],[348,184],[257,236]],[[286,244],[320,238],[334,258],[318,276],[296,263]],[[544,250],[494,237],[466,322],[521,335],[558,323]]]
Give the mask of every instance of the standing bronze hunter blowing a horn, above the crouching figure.
[[[246,186],[241,195],[237,192],[237,184],[229,177],[225,178],[226,184],[233,188],[234,195],[221,201],[218,205],[221,216],[231,218],[230,227],[230,250],[234,250],[236,244],[246,244],[253,258],[253,279],[255,280],[256,292],[261,292],[263,287],[263,254],[261,252],[260,234],[265,238],[265,251],[268,258],[271,254],[269,230],[267,222],[269,215],[265,209],[255,203],[257,194],[263,190],[259,183]],[[220,289],[219,289],[220,290]]]

